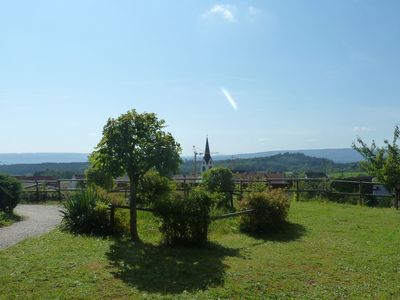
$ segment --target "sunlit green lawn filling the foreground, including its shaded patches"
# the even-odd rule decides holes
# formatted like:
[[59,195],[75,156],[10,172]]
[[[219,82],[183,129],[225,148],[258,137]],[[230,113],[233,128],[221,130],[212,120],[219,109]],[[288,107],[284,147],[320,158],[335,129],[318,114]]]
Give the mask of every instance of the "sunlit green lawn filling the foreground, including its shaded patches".
[[159,244],[140,214],[141,244],[55,230],[0,252],[0,299],[287,299],[400,297],[400,213],[292,203],[284,232],[248,236],[216,221],[204,248]]

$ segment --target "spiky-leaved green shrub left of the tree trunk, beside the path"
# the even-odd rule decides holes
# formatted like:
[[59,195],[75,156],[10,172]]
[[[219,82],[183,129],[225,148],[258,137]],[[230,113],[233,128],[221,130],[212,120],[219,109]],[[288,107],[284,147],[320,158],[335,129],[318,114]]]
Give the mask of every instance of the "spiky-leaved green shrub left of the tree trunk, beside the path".
[[108,234],[109,202],[107,193],[100,188],[89,187],[68,196],[61,210],[62,228],[72,233]]

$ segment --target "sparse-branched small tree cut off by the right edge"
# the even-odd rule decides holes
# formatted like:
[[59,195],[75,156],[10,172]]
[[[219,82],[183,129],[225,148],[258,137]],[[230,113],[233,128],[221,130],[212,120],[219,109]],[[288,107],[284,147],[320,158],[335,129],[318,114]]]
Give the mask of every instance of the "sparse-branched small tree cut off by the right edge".
[[398,139],[400,137],[399,126],[394,128],[393,140],[390,143],[384,140],[384,145],[378,147],[375,141],[368,146],[360,137],[357,138],[359,145],[353,143],[353,149],[359,152],[365,159],[361,167],[371,176],[376,177],[390,191],[395,191],[395,207],[399,208],[400,192],[400,148]]

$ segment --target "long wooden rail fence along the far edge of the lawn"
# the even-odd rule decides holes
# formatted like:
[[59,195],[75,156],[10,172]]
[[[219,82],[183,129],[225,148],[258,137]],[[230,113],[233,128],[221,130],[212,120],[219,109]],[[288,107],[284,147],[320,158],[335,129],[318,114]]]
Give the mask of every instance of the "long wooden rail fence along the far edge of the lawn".
[[[201,178],[179,178],[174,179],[174,181],[177,183],[178,190],[187,191],[191,187],[199,185]],[[68,193],[82,191],[87,186],[87,182],[84,179],[27,180],[22,181],[22,183],[25,200],[28,201],[62,201]],[[363,205],[367,198],[392,198],[393,206],[397,209],[399,206],[399,191],[386,191],[385,193],[378,194],[374,192],[374,189],[376,187],[383,187],[383,184],[368,181],[332,180],[327,178],[235,179],[234,190],[226,192],[230,193],[231,199],[233,199],[233,196],[241,199],[245,193],[252,191],[251,185],[255,183],[285,188],[287,192],[294,194],[297,201],[312,194],[320,194],[329,197],[356,197],[357,203],[360,205]],[[126,180],[117,180],[116,188],[110,190],[110,192],[123,193],[125,198],[128,198],[129,182]]]

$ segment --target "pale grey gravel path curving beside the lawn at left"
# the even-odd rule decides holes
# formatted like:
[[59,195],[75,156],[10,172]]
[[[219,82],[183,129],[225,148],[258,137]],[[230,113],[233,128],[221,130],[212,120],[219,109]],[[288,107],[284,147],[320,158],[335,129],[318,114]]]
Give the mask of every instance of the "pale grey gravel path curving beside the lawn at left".
[[18,205],[14,212],[23,220],[0,228],[0,250],[54,229],[61,221],[59,209],[57,205]]

